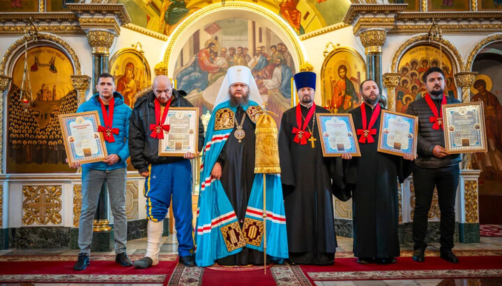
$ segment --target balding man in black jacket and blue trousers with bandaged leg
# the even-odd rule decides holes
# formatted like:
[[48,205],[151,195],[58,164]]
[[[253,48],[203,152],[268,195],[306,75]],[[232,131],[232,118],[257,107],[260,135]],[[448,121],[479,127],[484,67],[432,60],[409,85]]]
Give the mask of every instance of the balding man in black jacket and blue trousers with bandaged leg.
[[[190,159],[197,154],[187,152],[182,157],[159,157],[159,140],[167,136],[169,125],[165,118],[169,107],[193,107],[179,97],[172,88],[169,77],[160,75],[153,79],[153,90],[139,97],[132,109],[129,122],[129,152],[131,163],[146,178],[147,244],[146,255],[134,262],[135,268],[148,268],[158,264],[162,220],[167,214],[172,198],[176,221],[176,238],[180,262],[195,266],[192,257],[192,166]],[[199,151],[204,145],[204,125],[199,118]]]

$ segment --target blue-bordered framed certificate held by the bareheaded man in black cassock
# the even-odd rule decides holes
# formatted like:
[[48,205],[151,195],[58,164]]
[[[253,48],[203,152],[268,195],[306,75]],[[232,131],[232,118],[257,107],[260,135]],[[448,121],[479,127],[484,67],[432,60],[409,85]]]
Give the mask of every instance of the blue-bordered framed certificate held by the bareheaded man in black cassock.
[[382,110],[378,152],[416,155],[418,117]]

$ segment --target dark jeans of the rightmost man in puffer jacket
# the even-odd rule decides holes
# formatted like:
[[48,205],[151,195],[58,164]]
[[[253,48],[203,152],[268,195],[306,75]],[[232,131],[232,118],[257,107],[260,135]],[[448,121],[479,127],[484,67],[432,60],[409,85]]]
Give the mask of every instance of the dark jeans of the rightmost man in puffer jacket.
[[420,168],[413,170],[413,185],[415,186],[415,212],[413,214],[413,248],[427,248],[427,216],[432,203],[434,186],[437,186],[441,223],[439,232],[441,250],[453,248],[453,233],[455,232],[455,194],[459,182],[459,165],[441,168]]

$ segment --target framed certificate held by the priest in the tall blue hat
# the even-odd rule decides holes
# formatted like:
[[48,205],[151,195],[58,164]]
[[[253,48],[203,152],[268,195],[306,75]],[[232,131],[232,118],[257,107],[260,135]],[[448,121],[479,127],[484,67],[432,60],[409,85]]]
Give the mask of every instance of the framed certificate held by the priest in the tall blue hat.
[[340,157],[344,153],[360,156],[351,114],[317,113],[316,116],[324,157]]

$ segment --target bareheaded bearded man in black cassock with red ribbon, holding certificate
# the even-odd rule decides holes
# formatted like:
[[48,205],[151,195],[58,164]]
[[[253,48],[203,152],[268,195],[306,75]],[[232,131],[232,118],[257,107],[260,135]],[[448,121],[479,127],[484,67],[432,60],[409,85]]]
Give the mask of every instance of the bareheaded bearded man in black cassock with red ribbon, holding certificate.
[[[395,257],[400,256],[397,178],[403,182],[408,177],[411,173],[408,160],[413,160],[415,154],[406,153],[403,160],[395,153],[378,152],[379,138],[383,136],[379,86],[367,79],[360,90],[363,104],[350,111],[361,155],[351,160],[357,173],[352,191],[353,252],[360,264],[395,263]],[[351,159],[351,155],[346,153],[342,158]]]

